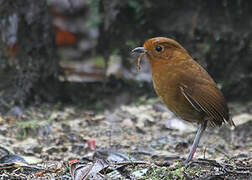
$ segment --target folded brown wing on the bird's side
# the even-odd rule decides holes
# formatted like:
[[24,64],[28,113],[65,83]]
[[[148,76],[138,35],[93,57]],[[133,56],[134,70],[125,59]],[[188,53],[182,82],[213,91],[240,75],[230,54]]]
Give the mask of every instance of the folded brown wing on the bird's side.
[[[200,67],[200,71],[202,69]],[[234,125],[232,119],[229,118],[223,94],[208,73],[204,73],[206,76],[199,77],[187,72],[179,86],[181,93],[197,111],[206,114],[211,125],[220,126],[222,122]]]

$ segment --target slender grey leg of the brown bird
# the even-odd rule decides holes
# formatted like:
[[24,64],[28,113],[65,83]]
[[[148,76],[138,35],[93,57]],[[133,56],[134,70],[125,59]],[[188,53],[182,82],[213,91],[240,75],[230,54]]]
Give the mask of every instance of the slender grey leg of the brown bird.
[[197,134],[196,134],[196,136],[194,138],[193,145],[192,145],[192,147],[190,149],[189,155],[187,156],[186,160],[182,162],[182,164],[188,163],[189,161],[191,161],[193,159],[193,155],[194,155],[194,153],[195,153],[195,151],[197,149],[197,146],[199,144],[202,133],[206,129],[206,126],[207,126],[207,121],[205,121],[204,123],[201,123],[199,125],[199,128],[197,130]]

